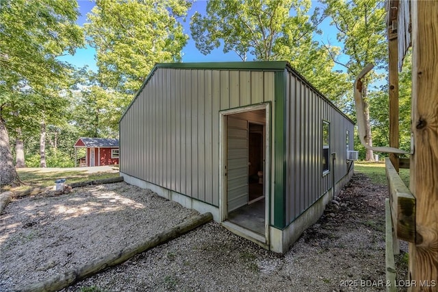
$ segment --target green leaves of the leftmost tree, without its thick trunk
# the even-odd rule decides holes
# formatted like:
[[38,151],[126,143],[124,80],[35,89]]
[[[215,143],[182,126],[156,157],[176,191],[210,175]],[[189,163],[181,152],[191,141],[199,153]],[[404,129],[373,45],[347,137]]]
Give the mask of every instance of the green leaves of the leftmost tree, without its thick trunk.
[[[65,121],[62,90],[71,85],[71,68],[57,57],[74,53],[85,39],[75,23],[77,1],[0,0],[0,8],[0,119],[24,140],[42,121]],[[0,163],[12,165],[7,157]]]

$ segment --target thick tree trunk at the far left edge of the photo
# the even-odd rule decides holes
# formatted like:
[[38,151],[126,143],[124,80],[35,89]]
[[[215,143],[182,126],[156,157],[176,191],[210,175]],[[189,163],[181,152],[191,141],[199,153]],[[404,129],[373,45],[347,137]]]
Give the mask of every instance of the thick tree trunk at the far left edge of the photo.
[[5,121],[1,117],[0,109],[0,187],[16,181],[19,181],[19,178],[14,167],[8,129],[6,129]]

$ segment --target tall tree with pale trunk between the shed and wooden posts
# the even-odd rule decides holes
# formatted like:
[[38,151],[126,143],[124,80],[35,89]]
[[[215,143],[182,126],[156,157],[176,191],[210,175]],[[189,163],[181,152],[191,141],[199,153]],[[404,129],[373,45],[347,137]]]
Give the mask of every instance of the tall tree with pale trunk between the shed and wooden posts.
[[[387,45],[385,38],[385,9],[382,1],[379,0],[320,0],[326,5],[324,15],[332,19],[332,23],[337,27],[337,40],[344,42],[342,52],[349,56],[346,63],[337,60],[333,61],[341,64],[347,70],[350,81],[355,80],[361,69],[368,63],[375,64],[376,69],[385,66],[387,58]],[[368,88],[378,76],[369,74],[362,80],[363,88]],[[363,114],[365,117],[365,142],[372,145],[372,134],[370,127],[370,108],[368,95],[365,89],[365,107]],[[373,151],[366,149],[365,160],[374,160]]]

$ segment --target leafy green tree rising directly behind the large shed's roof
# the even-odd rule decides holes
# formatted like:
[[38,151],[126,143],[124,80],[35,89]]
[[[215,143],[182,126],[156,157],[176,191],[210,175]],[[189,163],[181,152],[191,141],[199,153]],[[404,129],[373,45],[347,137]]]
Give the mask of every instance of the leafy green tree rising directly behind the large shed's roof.
[[[348,84],[333,72],[329,52],[312,40],[318,31],[318,10],[309,16],[310,0],[211,0],[207,14],[196,12],[190,29],[196,47],[205,55],[223,45],[243,61],[287,60],[313,86],[337,102]],[[330,53],[337,55],[332,47]]]

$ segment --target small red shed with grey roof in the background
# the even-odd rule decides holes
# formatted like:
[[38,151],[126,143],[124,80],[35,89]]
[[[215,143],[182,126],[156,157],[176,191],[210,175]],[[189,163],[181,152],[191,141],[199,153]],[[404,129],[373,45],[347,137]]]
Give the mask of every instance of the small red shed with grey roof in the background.
[[86,148],[85,161],[79,167],[99,167],[118,165],[118,139],[79,138],[75,143],[75,167],[77,167],[77,148]]

